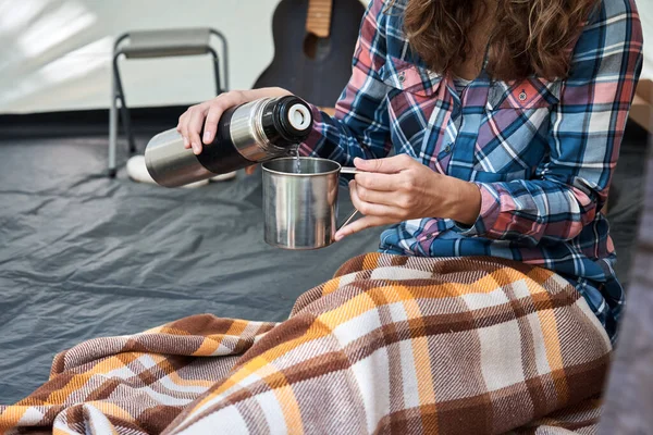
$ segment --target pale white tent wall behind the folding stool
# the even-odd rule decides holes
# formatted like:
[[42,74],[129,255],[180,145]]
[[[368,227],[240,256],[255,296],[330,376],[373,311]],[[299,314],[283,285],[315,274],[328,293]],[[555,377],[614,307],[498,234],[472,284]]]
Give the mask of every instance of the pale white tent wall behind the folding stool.
[[[210,26],[230,48],[231,88],[249,88],[273,58],[278,0],[0,0],[0,113],[107,109],[116,36]],[[219,46],[217,46],[219,47]],[[121,64],[132,107],[214,94],[210,57]]]

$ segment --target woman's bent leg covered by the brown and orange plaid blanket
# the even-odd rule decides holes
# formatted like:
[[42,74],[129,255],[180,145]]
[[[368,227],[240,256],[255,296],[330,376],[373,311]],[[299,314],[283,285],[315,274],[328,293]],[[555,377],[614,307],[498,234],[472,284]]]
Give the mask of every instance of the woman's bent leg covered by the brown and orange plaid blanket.
[[550,271],[356,259],[167,434],[503,433],[600,393],[611,344]]

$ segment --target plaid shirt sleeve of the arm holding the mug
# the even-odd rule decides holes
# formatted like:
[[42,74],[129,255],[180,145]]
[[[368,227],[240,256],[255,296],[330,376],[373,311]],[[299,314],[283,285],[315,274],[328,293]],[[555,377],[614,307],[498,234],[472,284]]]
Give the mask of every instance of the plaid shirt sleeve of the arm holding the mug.
[[478,183],[480,215],[463,234],[570,240],[605,203],[641,72],[642,29],[633,0],[600,4],[552,110],[549,158],[533,179]]

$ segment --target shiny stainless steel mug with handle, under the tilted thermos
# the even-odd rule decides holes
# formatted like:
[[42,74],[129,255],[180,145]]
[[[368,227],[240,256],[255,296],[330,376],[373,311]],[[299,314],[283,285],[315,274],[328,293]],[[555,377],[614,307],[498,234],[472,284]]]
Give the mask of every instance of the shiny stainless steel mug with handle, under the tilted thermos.
[[319,249],[332,245],[337,229],[354,219],[357,210],[337,225],[337,191],[341,173],[353,167],[319,158],[293,157],[270,160],[263,169],[264,239],[283,249]]

